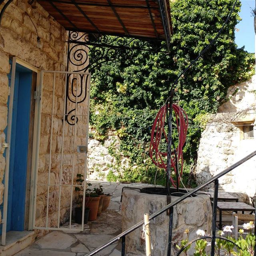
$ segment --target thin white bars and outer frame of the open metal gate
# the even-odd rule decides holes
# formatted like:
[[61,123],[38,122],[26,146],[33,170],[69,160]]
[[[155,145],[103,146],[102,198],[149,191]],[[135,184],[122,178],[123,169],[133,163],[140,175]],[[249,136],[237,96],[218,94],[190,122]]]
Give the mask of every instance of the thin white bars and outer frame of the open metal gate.
[[[53,78],[53,93],[52,93],[52,113],[42,113],[42,95],[43,95],[43,77],[44,77],[44,73],[53,73],[54,74],[54,78]],[[53,117],[56,113],[54,113],[54,94],[55,94],[55,80],[56,80],[56,74],[65,74],[65,87],[64,87],[64,109],[63,109],[63,113],[62,114],[58,114],[58,115],[62,115],[63,116],[63,129],[62,129],[62,145],[61,145],[61,167],[60,167],[60,183],[59,184],[50,184],[50,172],[51,172],[51,154],[52,154],[52,133],[53,133]],[[76,157],[76,129],[77,129],[77,125],[79,125],[79,123],[77,124],[75,122],[74,124],[74,143],[73,143],[73,159],[72,159],[72,184],[62,184],[62,169],[63,169],[63,155],[64,155],[64,133],[65,133],[65,126],[68,125],[65,122],[65,117],[67,116],[67,114],[65,114],[65,105],[66,105],[66,86],[67,86],[67,79],[68,79],[68,75],[69,74],[76,74],[76,75],[84,75],[84,78],[86,78],[86,76],[88,76],[88,84],[87,84],[87,124],[86,124],[86,145],[88,146],[88,130],[89,130],[89,110],[90,110],[90,73],[84,73],[84,72],[61,72],[61,71],[42,71],[41,74],[41,88],[40,88],[40,106],[39,106],[39,118],[38,118],[38,130],[37,130],[37,157],[36,157],[36,174],[35,174],[35,194],[34,194],[34,218],[33,218],[33,228],[34,229],[40,229],[40,230],[72,230],[72,231],[83,231],[84,230],[84,225],[81,225],[81,228],[71,228],[71,217],[72,217],[72,200],[73,200],[73,188],[74,186],[78,186],[77,184],[74,184],[74,162],[75,162],[75,157]],[[78,83],[76,83],[76,92],[78,91]],[[77,98],[77,94],[76,94],[76,103],[75,103],[75,120],[77,116],[85,116],[83,114],[79,114],[77,113],[77,103],[78,102],[78,98]],[[49,168],[48,168],[48,184],[42,184],[40,183],[40,181],[38,181],[38,161],[39,161],[39,145],[40,145],[40,127],[41,127],[41,115],[42,114],[50,114],[51,115],[51,131],[50,131],[50,160],[49,160]],[[73,114],[70,114],[70,116]],[[80,153],[81,154],[81,153]],[[85,192],[86,192],[86,176],[87,176],[87,152],[85,153],[85,162],[84,162],[84,184],[82,185],[84,188],[84,195],[83,195],[83,209],[82,209],[82,223],[84,223],[84,208],[85,208]],[[45,227],[38,227],[35,225],[35,221],[36,221],[36,200],[37,200],[37,188],[38,186],[48,186],[47,187],[47,206],[46,206],[46,226]],[[58,227],[48,227],[48,210],[49,210],[49,192],[50,192],[50,186],[58,186],[59,187],[59,202],[58,202]],[[60,204],[61,204],[61,188],[62,186],[70,186],[70,224],[69,224],[69,228],[61,228],[60,227]]]

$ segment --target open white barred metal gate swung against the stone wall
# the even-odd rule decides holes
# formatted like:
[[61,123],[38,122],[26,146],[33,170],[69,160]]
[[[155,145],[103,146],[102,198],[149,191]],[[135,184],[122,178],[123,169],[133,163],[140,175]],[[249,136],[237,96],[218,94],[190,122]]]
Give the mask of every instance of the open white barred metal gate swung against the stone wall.
[[[72,223],[76,174],[87,174],[90,73],[42,71],[33,228],[78,230]],[[68,225],[64,222],[69,222]],[[64,225],[62,225],[64,224]]]

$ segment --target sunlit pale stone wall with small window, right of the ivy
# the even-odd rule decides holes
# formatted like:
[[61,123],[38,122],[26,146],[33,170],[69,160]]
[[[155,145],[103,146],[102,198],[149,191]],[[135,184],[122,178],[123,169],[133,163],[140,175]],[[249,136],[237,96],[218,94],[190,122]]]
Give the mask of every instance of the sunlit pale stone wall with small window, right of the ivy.
[[[202,183],[256,150],[256,76],[228,89],[226,103],[219,108],[202,133],[196,178]],[[253,129],[246,138],[245,127]],[[256,190],[256,158],[248,160],[220,179],[228,192],[253,196]],[[248,198],[247,198],[248,199]]]

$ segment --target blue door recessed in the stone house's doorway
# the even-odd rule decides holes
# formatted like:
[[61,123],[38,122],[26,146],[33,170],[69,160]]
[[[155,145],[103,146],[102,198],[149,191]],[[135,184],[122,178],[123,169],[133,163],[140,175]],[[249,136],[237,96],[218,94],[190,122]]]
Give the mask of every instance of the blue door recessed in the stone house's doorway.
[[31,88],[32,71],[16,64],[10,142],[7,232],[24,230]]

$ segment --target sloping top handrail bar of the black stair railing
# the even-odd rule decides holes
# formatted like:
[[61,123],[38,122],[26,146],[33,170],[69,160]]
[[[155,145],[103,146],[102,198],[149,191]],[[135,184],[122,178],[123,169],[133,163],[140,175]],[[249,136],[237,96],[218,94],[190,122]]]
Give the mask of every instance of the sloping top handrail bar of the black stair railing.
[[[176,206],[176,204],[178,204],[178,203],[182,202],[183,200],[185,200],[186,198],[194,195],[196,192],[198,192],[202,188],[208,186],[210,183],[216,182],[220,177],[222,177],[225,174],[227,174],[228,172],[234,170],[236,167],[240,166],[241,164],[243,164],[244,162],[248,161],[249,159],[251,159],[254,156],[256,156],[256,150],[254,152],[252,152],[251,154],[245,156],[244,158],[242,158],[238,162],[232,164],[230,167],[226,168],[222,172],[216,174],[215,176],[213,176],[212,178],[210,178],[206,182],[204,182],[201,185],[197,186],[196,188],[190,190],[188,193],[186,193],[183,196],[181,196],[180,198],[176,199],[174,202],[171,202],[170,204],[164,206],[160,210],[154,212],[153,214],[151,214],[149,216],[149,220],[152,220],[152,219],[156,218],[160,214],[162,214],[162,213],[166,212],[167,210],[169,210],[170,208]],[[256,214],[255,214],[255,216],[256,216]],[[123,250],[123,246],[125,244],[125,236],[130,234],[132,231],[136,230],[137,228],[141,227],[143,224],[144,224],[144,220],[134,224],[132,227],[128,228],[124,232],[122,232],[119,235],[115,236],[114,238],[110,239],[108,242],[106,242],[106,243],[102,244],[101,246],[99,246],[98,248],[92,250],[91,252],[86,254],[86,256],[92,256],[92,255],[96,254],[97,252],[100,252],[101,250],[103,250],[106,247],[110,246],[114,242],[118,241],[120,238],[122,238],[122,250]],[[256,228],[255,228],[255,230],[256,230]],[[256,246],[255,246],[254,250],[256,250]],[[124,254],[122,254],[122,255],[124,255]],[[254,252],[254,255],[256,256],[255,252]]]

